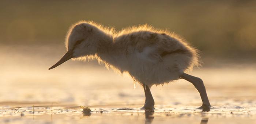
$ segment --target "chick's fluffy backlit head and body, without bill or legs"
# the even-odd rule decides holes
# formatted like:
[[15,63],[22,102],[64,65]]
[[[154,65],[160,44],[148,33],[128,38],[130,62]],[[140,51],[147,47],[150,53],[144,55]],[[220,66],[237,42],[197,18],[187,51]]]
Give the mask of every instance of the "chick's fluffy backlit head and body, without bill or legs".
[[[82,40],[80,44],[77,44]],[[127,72],[135,82],[148,86],[179,79],[198,65],[198,52],[180,36],[147,24],[124,28],[103,27],[94,22],[74,24],[66,47],[79,60],[97,59],[107,68]]]

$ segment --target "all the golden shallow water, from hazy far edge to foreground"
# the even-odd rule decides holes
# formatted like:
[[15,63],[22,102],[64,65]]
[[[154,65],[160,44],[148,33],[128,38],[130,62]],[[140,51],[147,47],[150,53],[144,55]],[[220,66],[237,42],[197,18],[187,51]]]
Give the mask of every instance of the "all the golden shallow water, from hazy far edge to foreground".
[[[156,110],[152,112],[140,109],[143,88],[135,84],[134,89],[126,74],[95,62],[76,61],[48,70],[63,50],[8,49],[3,47],[0,52],[0,123],[256,123],[253,64],[223,63],[190,73],[204,80],[213,106],[210,112],[196,109],[201,105],[199,93],[185,80],[153,86]],[[80,105],[93,112],[83,114]]]

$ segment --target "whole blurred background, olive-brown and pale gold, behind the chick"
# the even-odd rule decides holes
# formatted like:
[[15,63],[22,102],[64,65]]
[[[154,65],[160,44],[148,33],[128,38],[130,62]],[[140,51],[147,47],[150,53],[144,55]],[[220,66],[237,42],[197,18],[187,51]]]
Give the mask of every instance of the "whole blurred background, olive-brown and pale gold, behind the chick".
[[[201,51],[202,67],[191,74],[204,80],[212,105],[255,105],[255,6],[255,0],[1,0],[1,104],[142,106],[138,84],[133,89],[130,77],[97,62],[68,61],[48,71],[66,52],[69,26],[92,20],[116,30],[147,23],[181,35]],[[157,105],[201,104],[193,85],[183,80],[152,92]]]

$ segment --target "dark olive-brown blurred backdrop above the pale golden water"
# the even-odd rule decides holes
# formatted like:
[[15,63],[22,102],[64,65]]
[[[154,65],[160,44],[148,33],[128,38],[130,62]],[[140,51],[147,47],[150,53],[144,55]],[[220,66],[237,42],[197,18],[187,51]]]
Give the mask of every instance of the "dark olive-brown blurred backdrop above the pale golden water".
[[117,30],[147,23],[180,34],[203,58],[248,61],[256,55],[255,5],[255,0],[6,0],[0,4],[0,45],[63,45],[69,26],[79,20]]

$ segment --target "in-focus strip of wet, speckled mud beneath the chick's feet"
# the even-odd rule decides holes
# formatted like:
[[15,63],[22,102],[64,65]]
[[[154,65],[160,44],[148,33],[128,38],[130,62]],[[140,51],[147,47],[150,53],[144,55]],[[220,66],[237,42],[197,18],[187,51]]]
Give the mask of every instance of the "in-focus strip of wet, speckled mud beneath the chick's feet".
[[144,111],[136,107],[130,108],[91,107],[91,113],[83,113],[78,106],[72,107],[21,107],[3,108],[0,111],[1,123],[146,123],[146,124],[244,124],[255,123],[255,108],[212,108],[211,112],[199,109],[157,108],[155,111]]

